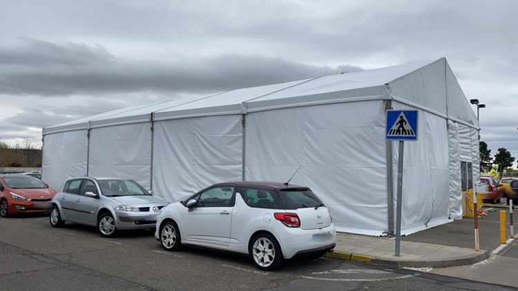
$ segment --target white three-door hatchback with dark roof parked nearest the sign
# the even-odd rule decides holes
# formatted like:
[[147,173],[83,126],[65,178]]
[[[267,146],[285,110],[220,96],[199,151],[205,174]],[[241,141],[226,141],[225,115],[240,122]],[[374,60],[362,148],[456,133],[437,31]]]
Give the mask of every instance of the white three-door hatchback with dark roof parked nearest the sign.
[[180,245],[247,254],[260,270],[284,259],[332,250],[331,214],[307,187],[274,182],[218,183],[158,214],[155,237],[165,250]]

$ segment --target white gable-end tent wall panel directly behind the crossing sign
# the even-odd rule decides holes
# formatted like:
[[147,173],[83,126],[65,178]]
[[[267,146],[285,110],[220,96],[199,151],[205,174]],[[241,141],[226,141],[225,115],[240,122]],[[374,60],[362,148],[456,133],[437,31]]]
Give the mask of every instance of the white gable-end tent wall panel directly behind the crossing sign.
[[[412,110],[401,103],[393,103],[393,107]],[[401,234],[411,234],[450,220],[446,120],[419,110],[417,132],[417,141],[404,142]],[[398,150],[399,143],[394,142],[394,206],[397,199]]]

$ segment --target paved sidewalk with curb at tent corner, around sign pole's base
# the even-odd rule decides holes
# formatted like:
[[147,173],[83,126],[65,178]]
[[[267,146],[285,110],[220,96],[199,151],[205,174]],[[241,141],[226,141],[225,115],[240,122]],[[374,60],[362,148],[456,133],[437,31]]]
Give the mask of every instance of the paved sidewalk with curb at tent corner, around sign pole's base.
[[[372,237],[340,232],[334,252],[327,257],[371,261],[399,267],[445,268],[471,265],[506,252],[515,239],[510,234],[508,206],[484,205],[479,217],[479,250],[474,249],[474,220],[463,218],[401,237],[399,256],[394,237]],[[506,211],[506,243],[500,242],[500,212]],[[515,213],[516,220],[516,213]],[[515,229],[513,237],[518,233]]]

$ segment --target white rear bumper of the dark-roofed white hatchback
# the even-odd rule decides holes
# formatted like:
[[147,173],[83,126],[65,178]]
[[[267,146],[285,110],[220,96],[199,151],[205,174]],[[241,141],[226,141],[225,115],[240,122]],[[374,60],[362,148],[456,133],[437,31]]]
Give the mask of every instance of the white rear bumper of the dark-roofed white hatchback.
[[336,230],[333,224],[315,230],[287,228],[282,224],[278,224],[278,228],[285,228],[276,232],[285,259],[305,253],[331,250],[336,243]]

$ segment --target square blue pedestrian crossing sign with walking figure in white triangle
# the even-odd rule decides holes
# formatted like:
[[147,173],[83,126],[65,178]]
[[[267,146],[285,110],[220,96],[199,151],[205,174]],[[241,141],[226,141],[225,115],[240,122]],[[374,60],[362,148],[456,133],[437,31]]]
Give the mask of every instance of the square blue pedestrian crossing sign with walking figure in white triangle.
[[387,139],[394,141],[417,140],[417,110],[388,110]]

